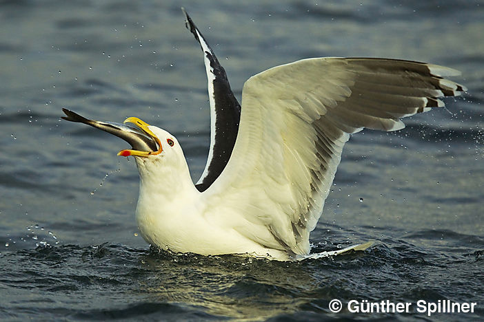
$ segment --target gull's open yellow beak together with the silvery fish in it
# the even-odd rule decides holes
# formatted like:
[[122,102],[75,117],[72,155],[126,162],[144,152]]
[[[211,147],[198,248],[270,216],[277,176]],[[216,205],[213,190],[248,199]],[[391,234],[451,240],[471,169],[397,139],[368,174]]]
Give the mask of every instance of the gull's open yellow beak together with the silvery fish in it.
[[[121,124],[90,120],[68,109],[62,109],[62,111],[66,115],[62,117],[64,120],[81,122],[90,125],[91,127],[101,129],[105,132],[113,134],[114,136],[122,138],[131,144],[131,150],[122,150],[118,153],[118,155],[147,157],[148,155],[157,155],[163,151],[159,138],[157,138],[157,136],[155,136],[154,133],[148,128],[150,125],[148,125],[146,122],[143,122],[139,118],[127,118],[123,124]],[[126,123],[131,123],[136,127],[126,125]]]

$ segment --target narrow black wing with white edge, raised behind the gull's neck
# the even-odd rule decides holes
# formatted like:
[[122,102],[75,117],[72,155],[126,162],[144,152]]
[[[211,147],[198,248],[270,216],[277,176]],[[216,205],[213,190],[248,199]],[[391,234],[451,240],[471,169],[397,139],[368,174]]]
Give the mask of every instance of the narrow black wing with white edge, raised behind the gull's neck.
[[196,189],[205,191],[212,182],[219,178],[225,168],[232,149],[234,149],[241,106],[230,89],[230,84],[225,74],[225,69],[220,65],[212,48],[196,28],[192,19],[185,10],[185,25],[192,32],[196,41],[199,42],[203,51],[203,62],[208,78],[208,98],[210,102],[210,150],[205,169],[196,182]]

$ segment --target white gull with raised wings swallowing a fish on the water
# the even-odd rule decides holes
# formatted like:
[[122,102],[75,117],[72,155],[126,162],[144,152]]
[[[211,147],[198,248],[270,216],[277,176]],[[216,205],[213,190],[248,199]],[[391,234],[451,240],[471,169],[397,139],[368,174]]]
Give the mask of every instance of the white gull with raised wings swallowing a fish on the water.
[[460,72],[441,65],[322,57],[250,77],[240,105],[214,52],[183,13],[203,51],[210,102],[209,156],[196,184],[168,131],[136,117],[102,122],[63,109],[65,120],[131,145],[118,155],[134,157],[139,171],[139,231],[148,244],[174,253],[279,261],[312,256],[310,232],[350,135],[403,129],[401,118],[443,107],[439,98],[467,91],[445,78]]

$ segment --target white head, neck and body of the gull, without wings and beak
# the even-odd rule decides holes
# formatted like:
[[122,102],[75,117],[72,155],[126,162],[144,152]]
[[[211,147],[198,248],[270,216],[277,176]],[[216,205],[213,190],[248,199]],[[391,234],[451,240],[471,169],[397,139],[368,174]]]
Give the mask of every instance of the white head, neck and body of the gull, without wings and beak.
[[[237,231],[241,223],[239,204],[208,204],[207,193],[195,189],[176,138],[157,127],[150,129],[174,147],[165,147],[159,158],[136,158],[140,191],[136,218],[148,244],[181,253],[201,255],[252,253],[254,256],[289,259],[288,253],[266,248]],[[163,140],[164,139],[164,140]],[[169,149],[169,150],[168,150]],[[257,229],[254,226],[254,229]]]

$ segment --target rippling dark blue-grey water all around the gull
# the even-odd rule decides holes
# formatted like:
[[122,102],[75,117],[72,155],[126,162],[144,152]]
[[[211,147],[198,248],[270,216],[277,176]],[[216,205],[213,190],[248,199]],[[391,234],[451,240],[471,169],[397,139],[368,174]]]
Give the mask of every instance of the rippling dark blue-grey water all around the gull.
[[[208,96],[185,6],[236,96],[274,65],[381,56],[461,70],[469,94],[347,144],[312,233],[283,263],[150,251],[134,221],[125,142],[61,122],[137,116],[174,133],[194,180]],[[479,1],[0,1],[0,318],[414,319],[484,316],[484,3]],[[475,302],[474,313],[332,313],[329,303]]]

